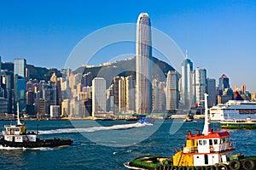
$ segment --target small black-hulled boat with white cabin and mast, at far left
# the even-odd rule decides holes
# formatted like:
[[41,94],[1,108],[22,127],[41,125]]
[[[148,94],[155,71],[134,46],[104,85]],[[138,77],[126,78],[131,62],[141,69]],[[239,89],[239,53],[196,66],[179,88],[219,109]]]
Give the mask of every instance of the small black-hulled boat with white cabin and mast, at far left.
[[[19,108],[19,106],[18,106]],[[15,148],[38,148],[38,147],[58,147],[71,145],[71,139],[39,139],[38,132],[27,132],[26,126],[20,122],[19,111],[16,125],[5,125],[3,137],[0,137],[0,146]]]

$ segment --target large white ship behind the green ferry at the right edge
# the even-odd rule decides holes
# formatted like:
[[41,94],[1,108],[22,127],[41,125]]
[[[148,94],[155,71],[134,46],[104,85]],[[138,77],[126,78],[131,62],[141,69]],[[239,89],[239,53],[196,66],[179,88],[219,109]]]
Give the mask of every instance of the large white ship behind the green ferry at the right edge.
[[229,100],[225,104],[214,105],[210,109],[211,121],[233,119],[256,119],[256,102],[248,100]]

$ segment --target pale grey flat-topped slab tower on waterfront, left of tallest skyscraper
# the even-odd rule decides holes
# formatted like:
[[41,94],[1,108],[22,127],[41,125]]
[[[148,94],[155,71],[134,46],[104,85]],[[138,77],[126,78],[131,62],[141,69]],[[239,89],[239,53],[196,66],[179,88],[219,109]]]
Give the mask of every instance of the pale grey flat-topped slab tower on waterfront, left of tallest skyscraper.
[[92,80],[92,116],[106,112],[106,80],[95,77]]

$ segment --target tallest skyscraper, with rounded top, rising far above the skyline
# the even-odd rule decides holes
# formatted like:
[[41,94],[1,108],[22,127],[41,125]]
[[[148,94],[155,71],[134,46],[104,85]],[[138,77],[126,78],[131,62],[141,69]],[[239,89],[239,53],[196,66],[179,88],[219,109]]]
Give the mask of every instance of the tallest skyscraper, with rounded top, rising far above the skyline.
[[137,19],[136,42],[136,110],[138,114],[149,114],[152,111],[151,59],[151,24],[148,14],[142,13]]

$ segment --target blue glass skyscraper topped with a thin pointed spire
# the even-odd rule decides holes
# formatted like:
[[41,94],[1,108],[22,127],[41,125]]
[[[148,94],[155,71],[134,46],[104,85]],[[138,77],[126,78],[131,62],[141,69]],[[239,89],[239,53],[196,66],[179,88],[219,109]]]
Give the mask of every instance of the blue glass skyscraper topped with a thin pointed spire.
[[192,71],[193,63],[188,59],[188,51],[186,51],[186,59],[182,63],[182,84],[181,84],[181,105],[183,109],[190,109],[192,106]]

